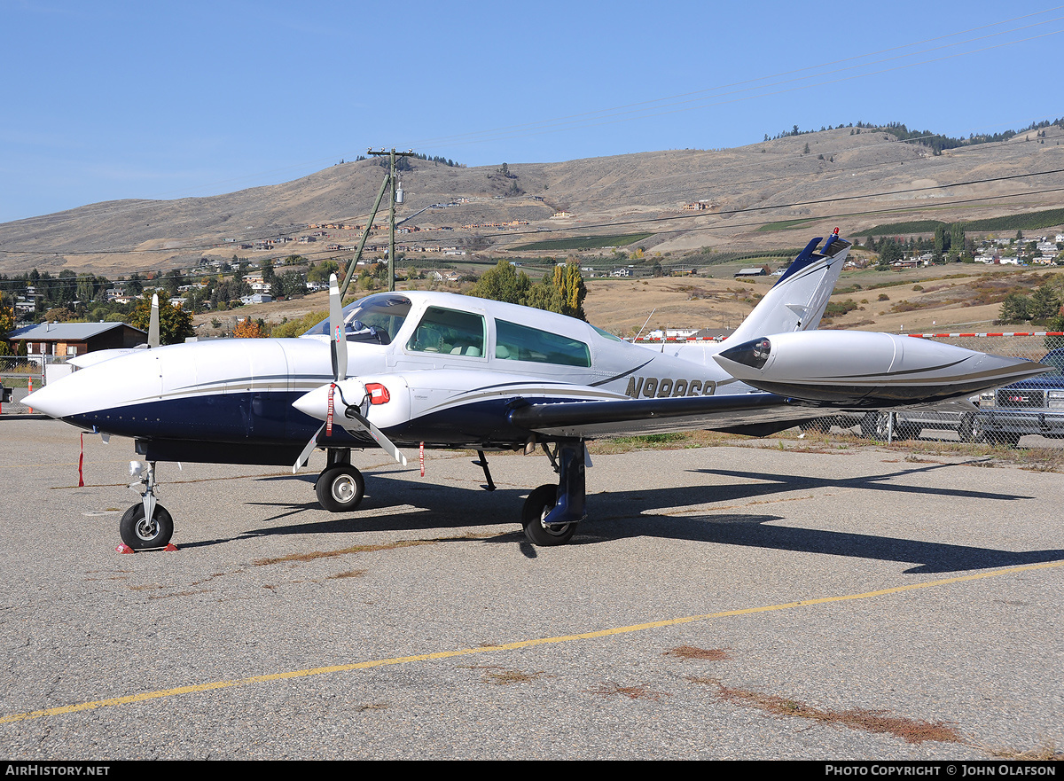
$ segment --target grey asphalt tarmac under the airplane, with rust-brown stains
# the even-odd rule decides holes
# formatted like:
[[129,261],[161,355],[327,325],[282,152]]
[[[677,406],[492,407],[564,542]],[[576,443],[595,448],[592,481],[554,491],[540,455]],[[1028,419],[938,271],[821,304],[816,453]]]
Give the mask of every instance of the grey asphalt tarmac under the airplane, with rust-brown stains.
[[[1064,476],[849,445],[160,464],[174,552],[116,552],[132,443],[0,423],[10,760],[986,760],[1064,745]],[[982,464],[982,465],[981,465]]]

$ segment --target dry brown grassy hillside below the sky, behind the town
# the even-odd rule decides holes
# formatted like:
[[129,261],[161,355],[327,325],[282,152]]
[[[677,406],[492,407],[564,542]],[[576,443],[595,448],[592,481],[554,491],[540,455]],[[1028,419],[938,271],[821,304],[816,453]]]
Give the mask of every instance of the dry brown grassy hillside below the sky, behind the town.
[[[1059,129],[1052,130],[1060,134]],[[420,231],[400,240],[415,247],[454,245],[491,255],[548,236],[652,232],[652,237],[637,246],[661,252],[698,247],[732,251],[799,246],[810,235],[824,235],[834,226],[844,235],[860,236],[874,225],[900,219],[949,221],[1059,207],[1059,193],[1040,195],[1037,190],[1064,188],[1064,173],[942,186],[1064,170],[1064,147],[1059,139],[1040,140],[1033,134],[1020,135],[1003,144],[933,156],[926,147],[898,142],[886,133],[854,134],[841,128],[720,151],[510,163],[509,175],[501,169],[502,161],[498,166],[461,168],[415,160],[414,169],[402,175],[406,201],[399,209],[400,219],[432,204],[461,202],[430,207],[413,217],[406,225]],[[272,253],[235,247],[256,238],[299,235],[307,223],[365,222],[382,172],[372,160],[345,163],[293,182],[228,195],[98,203],[3,223],[0,272],[36,267],[55,273],[71,268],[114,277],[234,253],[252,260],[293,252],[312,260],[337,256],[323,245],[354,244],[355,231],[331,231],[315,245],[298,245],[298,249],[295,244],[280,245]],[[958,199],[1004,194],[1016,198],[950,205]],[[810,203],[827,200],[831,202]],[[705,201],[710,207],[683,211],[684,204],[696,201]],[[902,209],[912,211],[890,211]],[[736,214],[736,210],[746,211]],[[553,218],[555,211],[571,216]],[[385,218],[382,213],[377,221],[383,225]],[[803,218],[811,221],[789,230],[757,230],[765,223]],[[499,228],[513,220],[521,225]],[[614,227],[596,228],[602,223]],[[444,227],[453,230],[439,230]],[[383,242],[383,233],[370,240]]]

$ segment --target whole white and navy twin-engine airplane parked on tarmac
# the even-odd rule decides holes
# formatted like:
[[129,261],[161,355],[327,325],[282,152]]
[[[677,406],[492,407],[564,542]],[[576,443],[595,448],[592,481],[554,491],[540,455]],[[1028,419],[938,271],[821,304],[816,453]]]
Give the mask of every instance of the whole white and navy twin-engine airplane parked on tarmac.
[[[849,243],[837,229],[795,259],[727,343],[671,354],[539,310],[444,293],[380,293],[299,338],[218,339],[97,355],[28,404],[104,436],[133,437],[142,501],[119,524],[134,549],[162,547],[173,521],[155,500],[159,461],[327,465],[326,510],[353,510],[364,481],[351,450],[537,448],[558,484],[525,501],[535,545],[562,545],[586,517],[585,441],[711,429],[767,435],[825,409],[965,397],[1041,364],[887,334],[815,331]],[[103,359],[103,360],[101,360]],[[89,361],[84,363],[88,364]],[[353,371],[349,375],[349,367]]]

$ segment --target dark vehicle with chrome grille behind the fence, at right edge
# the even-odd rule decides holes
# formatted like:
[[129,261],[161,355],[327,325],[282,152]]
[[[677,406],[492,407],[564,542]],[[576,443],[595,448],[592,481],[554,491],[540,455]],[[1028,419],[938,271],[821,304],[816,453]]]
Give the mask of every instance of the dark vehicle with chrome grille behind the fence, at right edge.
[[1064,439],[1064,348],[1038,363],[1052,371],[985,394],[975,425],[987,442],[1016,447],[1024,434]]

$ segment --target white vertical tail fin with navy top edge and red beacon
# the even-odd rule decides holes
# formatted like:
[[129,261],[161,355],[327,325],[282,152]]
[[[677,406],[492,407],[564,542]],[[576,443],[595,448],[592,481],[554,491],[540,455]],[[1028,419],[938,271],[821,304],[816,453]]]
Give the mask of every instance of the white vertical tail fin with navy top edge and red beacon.
[[820,325],[824,310],[846,262],[850,243],[838,237],[838,229],[817,251],[814,238],[783,272],[779,282],[747,315],[729,344],[792,331],[810,331]]

